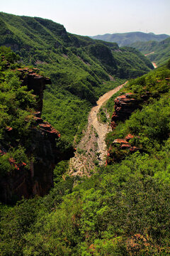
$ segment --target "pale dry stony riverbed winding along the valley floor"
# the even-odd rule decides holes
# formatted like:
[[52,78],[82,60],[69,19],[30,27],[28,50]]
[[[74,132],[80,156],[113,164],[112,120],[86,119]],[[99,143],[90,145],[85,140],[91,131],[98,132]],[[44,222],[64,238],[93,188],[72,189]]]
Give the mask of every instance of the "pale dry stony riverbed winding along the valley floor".
[[[125,82],[123,85],[125,85]],[[90,171],[95,166],[103,165],[106,161],[106,142],[105,137],[111,131],[108,124],[98,121],[98,110],[111,96],[118,92],[123,85],[106,92],[96,102],[97,105],[92,107],[89,113],[88,125],[81,142],[77,145],[77,151],[74,157],[69,161],[69,174],[79,176],[90,176]]]

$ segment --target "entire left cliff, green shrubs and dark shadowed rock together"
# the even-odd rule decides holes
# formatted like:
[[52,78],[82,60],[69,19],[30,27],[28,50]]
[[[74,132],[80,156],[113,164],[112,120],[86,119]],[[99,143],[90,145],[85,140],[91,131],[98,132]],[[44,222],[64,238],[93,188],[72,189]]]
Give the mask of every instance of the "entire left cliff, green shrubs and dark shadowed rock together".
[[43,196],[53,186],[53,170],[74,149],[62,151],[60,134],[41,118],[49,78],[23,68],[11,49],[0,47],[0,201]]

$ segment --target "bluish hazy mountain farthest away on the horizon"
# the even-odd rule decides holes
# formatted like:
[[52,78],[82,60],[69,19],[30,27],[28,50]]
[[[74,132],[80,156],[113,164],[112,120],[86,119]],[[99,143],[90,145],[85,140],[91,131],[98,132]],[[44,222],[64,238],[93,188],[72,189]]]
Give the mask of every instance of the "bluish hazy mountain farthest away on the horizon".
[[128,46],[135,42],[162,41],[169,36],[166,34],[155,35],[154,33],[129,32],[129,33],[106,33],[105,35],[90,36],[90,38],[107,42],[118,43],[119,46]]

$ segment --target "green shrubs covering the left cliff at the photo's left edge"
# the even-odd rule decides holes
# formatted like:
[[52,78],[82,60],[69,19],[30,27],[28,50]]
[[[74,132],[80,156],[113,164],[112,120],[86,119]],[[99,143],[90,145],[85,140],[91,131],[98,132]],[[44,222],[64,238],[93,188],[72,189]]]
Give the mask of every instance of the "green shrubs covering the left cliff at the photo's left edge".
[[31,113],[34,111],[35,97],[26,86],[21,86],[19,74],[13,71],[21,66],[17,60],[19,56],[10,48],[0,47],[0,146],[1,149],[5,148],[6,153],[0,157],[1,177],[14,169],[15,164],[24,162],[29,165],[26,149],[33,125]]

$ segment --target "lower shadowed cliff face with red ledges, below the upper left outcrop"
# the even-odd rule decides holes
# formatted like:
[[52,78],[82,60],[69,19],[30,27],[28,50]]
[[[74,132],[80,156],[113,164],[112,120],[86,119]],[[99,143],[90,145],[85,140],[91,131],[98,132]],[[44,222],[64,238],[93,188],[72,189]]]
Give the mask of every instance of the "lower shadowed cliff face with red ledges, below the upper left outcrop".
[[[35,161],[30,162],[28,167],[25,163],[16,164],[14,159],[9,159],[13,171],[1,178],[1,201],[11,201],[14,195],[18,199],[22,196],[30,198],[36,194],[43,196],[52,187],[53,169],[60,161],[60,151],[56,147],[56,140],[60,134],[40,117],[35,117],[35,122],[36,125],[30,133],[30,146],[27,151],[28,156],[34,156]],[[0,154],[6,154],[6,151],[1,150]]]

